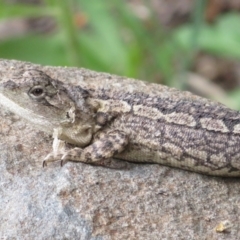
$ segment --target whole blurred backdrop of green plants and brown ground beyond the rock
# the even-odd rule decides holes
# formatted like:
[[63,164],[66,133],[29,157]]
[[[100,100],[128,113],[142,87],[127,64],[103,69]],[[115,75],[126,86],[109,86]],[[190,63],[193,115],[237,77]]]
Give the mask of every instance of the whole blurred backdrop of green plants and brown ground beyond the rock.
[[[207,83],[201,88],[219,87],[207,97],[240,109],[240,6],[216,14],[210,0],[195,0],[182,13],[174,4],[167,12],[160,2],[1,0],[0,58],[85,67],[181,89],[189,88],[189,78],[198,81],[196,74]],[[224,71],[207,75],[199,62]]]

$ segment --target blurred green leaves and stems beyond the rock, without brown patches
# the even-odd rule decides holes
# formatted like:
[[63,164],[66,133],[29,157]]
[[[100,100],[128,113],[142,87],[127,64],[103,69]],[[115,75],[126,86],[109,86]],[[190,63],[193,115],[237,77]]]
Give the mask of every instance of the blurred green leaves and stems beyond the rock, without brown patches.
[[190,69],[198,51],[240,59],[239,14],[203,21],[204,1],[196,1],[192,24],[164,30],[150,8],[140,20],[120,0],[45,0],[45,5],[0,2],[0,20],[52,16],[49,34],[25,34],[0,42],[0,57],[45,65],[79,66],[171,86],[174,75]]

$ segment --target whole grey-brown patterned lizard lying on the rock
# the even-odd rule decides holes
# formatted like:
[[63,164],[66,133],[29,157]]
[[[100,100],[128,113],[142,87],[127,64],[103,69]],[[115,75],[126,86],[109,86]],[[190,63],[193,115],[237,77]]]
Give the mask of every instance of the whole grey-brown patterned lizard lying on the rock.
[[141,162],[240,177],[240,112],[187,91],[113,75],[72,84],[27,68],[0,83],[0,105],[53,135],[43,166]]

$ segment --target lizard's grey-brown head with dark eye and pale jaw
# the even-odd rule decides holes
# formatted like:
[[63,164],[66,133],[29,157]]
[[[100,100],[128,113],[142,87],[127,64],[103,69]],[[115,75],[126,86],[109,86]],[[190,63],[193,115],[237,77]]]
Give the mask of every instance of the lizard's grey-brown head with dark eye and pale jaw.
[[45,132],[57,129],[60,139],[78,146],[91,141],[94,128],[87,97],[86,90],[35,69],[15,73],[0,84],[1,105]]

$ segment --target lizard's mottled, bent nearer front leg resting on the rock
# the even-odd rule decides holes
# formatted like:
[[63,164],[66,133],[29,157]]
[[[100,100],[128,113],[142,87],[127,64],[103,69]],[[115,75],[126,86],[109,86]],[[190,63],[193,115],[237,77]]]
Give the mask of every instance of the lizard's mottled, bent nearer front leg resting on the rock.
[[112,157],[122,152],[127,144],[128,137],[122,131],[101,133],[91,145],[83,149],[76,147],[66,151],[61,157],[61,165],[67,161],[79,161],[110,168],[125,168],[126,163]]

